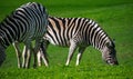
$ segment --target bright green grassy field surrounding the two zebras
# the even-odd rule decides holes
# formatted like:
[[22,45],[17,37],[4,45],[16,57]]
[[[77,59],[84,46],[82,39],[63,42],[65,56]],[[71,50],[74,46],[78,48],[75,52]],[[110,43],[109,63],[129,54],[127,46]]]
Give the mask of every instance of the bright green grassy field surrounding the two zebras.
[[[32,0],[29,0],[32,1]],[[7,59],[0,67],[0,79],[133,79],[133,0],[37,0],[50,16],[85,17],[94,19],[115,39],[119,66],[108,66],[101,52],[89,47],[79,67],[75,56],[65,67],[68,48],[50,45],[50,67],[18,69],[14,49],[7,49]],[[0,21],[25,0],[0,1]]]

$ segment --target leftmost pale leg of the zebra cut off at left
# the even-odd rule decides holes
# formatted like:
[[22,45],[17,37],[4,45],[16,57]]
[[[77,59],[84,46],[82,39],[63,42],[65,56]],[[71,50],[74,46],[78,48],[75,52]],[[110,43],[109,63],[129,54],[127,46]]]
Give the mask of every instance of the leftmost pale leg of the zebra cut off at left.
[[13,47],[14,47],[16,53],[17,53],[18,68],[21,68],[21,51],[20,51],[20,48],[19,48],[19,42],[14,42]]

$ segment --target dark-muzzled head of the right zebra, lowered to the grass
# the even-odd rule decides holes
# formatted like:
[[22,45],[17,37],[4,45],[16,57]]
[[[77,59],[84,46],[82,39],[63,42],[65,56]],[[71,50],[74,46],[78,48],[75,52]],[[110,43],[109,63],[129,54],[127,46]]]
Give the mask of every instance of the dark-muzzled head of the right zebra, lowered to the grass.
[[102,51],[102,58],[109,65],[119,65],[114,42],[106,42]]

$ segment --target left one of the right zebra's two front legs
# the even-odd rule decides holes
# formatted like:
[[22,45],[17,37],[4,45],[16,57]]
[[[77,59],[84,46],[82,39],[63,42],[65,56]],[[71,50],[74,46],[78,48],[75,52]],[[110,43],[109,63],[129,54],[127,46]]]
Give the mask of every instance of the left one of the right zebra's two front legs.
[[71,45],[70,45],[68,60],[66,60],[65,66],[69,66],[69,63],[70,63],[70,61],[72,59],[72,56],[73,56],[73,52],[75,51],[75,49],[76,49],[76,43],[74,41],[72,41]]

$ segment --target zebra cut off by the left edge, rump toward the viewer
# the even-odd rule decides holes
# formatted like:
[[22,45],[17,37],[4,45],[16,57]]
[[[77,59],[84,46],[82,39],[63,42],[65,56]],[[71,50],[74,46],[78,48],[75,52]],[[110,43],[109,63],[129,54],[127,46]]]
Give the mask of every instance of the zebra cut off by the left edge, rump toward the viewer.
[[[4,50],[18,41],[25,46],[22,67],[29,67],[31,41],[35,40],[34,57],[48,26],[45,8],[37,2],[29,2],[16,9],[0,23],[0,66],[6,59]],[[35,58],[34,58],[35,65]]]

